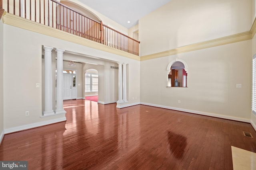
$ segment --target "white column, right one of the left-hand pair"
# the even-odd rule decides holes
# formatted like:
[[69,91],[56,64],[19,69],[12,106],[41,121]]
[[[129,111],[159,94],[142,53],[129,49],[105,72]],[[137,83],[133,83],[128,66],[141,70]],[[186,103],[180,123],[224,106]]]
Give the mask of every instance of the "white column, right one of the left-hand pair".
[[57,52],[57,86],[56,86],[56,114],[66,113],[63,109],[63,53],[65,50],[56,49]]

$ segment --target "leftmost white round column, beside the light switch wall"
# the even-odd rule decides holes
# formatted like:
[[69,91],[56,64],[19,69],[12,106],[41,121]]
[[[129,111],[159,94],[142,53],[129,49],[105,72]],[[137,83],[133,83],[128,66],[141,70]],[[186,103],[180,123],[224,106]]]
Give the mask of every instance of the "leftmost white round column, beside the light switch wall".
[[52,110],[52,47],[44,46],[44,111],[43,115],[53,115]]

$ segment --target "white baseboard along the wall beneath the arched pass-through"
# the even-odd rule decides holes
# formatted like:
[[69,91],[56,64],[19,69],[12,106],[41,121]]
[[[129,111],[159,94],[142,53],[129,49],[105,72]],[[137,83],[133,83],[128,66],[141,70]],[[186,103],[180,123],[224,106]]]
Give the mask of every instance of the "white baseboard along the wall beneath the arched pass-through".
[[208,112],[189,110],[189,109],[181,109],[181,108],[178,108],[178,107],[162,106],[162,105],[149,104],[149,103],[143,103],[143,102],[140,102],[140,104],[147,105],[147,106],[160,107],[160,108],[164,108],[164,109],[184,111],[184,112],[194,113],[194,114],[198,114],[198,115],[212,116],[212,117],[218,117],[218,118],[222,118],[222,119],[229,119],[229,120],[235,120],[235,121],[242,121],[242,122],[246,122],[246,123],[251,123],[250,119],[245,119],[245,118],[242,118],[242,117],[220,115],[220,114],[215,114],[215,113],[208,113]]

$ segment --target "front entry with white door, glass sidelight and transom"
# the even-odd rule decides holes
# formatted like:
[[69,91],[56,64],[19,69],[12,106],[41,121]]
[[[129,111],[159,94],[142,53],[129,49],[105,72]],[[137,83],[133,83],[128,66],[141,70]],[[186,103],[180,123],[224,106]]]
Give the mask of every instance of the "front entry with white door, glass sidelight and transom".
[[76,70],[63,70],[63,100],[77,98]]

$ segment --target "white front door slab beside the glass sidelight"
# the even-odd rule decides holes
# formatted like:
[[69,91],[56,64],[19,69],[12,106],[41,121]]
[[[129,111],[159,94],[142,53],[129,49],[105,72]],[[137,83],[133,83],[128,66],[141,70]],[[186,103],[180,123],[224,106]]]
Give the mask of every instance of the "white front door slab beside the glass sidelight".
[[72,99],[72,74],[63,73],[63,100]]

